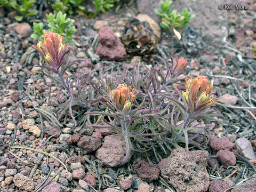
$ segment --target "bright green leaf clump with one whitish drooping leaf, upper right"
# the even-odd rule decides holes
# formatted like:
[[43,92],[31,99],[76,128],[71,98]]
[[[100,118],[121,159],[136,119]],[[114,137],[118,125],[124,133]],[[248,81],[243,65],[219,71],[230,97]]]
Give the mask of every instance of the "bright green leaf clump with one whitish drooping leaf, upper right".
[[195,14],[190,14],[186,8],[183,9],[182,13],[177,12],[177,10],[171,10],[171,4],[172,1],[162,2],[162,10],[155,10],[155,12],[162,18],[160,26],[167,30],[173,31],[175,36],[177,36],[180,40],[181,34],[176,29],[182,30],[185,28],[189,21],[195,17]]

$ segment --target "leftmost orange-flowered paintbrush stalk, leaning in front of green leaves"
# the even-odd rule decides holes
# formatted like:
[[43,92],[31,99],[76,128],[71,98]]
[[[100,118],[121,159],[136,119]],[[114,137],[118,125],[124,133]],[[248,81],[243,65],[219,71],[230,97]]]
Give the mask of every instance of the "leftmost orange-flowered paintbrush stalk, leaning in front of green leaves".
[[[38,66],[38,67],[44,67],[48,70],[52,71],[51,74],[43,73],[53,79],[56,83],[61,83],[63,88],[67,91],[69,94],[70,100],[69,100],[69,113],[71,118],[73,119],[73,122],[76,124],[75,118],[72,115],[72,109],[71,104],[76,102],[79,106],[87,107],[86,103],[82,102],[81,99],[79,99],[79,95],[76,95],[73,93],[73,88],[76,87],[78,90],[77,92],[81,92],[82,87],[84,87],[84,82],[81,85],[74,85],[74,79],[82,78],[83,76],[87,74],[83,74],[82,76],[79,76],[76,74],[68,76],[66,79],[63,77],[66,70],[74,64],[77,64],[78,60],[83,59],[76,59],[71,63],[68,63],[68,60],[66,59],[66,55],[68,51],[70,50],[70,46],[68,43],[63,43],[63,36],[58,35],[57,33],[47,32],[44,34],[44,43],[39,41],[37,43],[37,46],[32,45],[35,50],[37,50],[40,54],[43,55],[44,60],[47,62],[48,66]],[[86,60],[84,60],[86,61]],[[56,78],[57,77],[57,78]]]

